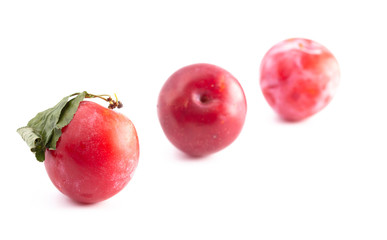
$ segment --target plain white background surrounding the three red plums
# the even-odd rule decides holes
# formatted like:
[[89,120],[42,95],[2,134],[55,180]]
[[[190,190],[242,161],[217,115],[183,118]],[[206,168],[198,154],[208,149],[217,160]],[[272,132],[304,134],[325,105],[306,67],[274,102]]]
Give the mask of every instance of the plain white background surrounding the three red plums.
[[[387,239],[383,2],[1,1],[0,239]],[[259,65],[292,37],[330,49],[342,78],[327,108],[290,124],[264,100]],[[198,62],[231,72],[248,112],[231,146],[192,160],[156,105]],[[117,93],[141,148],[128,186],[94,205],[62,195],[16,133],[83,90]]]

